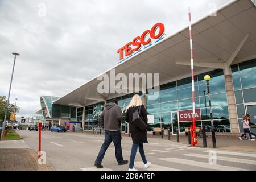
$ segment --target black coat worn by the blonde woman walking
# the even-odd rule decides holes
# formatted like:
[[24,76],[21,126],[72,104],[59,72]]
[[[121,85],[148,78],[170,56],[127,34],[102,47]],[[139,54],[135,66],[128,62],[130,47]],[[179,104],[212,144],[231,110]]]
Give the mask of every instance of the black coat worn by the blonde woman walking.
[[[133,113],[138,110],[139,106],[136,107],[130,107],[126,111],[125,115],[125,121],[129,123],[129,130],[131,133],[131,138],[133,139],[133,143],[148,143],[147,142],[147,130],[140,130],[136,123],[133,123],[131,125],[131,121],[133,121]],[[144,107],[144,105],[141,105],[141,117],[143,118],[143,121],[147,124],[147,111]],[[131,125],[131,126],[130,126]]]

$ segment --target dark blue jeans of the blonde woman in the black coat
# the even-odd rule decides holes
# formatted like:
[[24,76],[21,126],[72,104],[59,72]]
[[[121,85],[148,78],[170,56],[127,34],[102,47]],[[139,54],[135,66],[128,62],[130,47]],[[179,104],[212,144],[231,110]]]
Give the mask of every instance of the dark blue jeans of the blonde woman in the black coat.
[[133,146],[131,147],[131,156],[130,156],[130,164],[129,168],[132,169],[134,167],[134,160],[137,153],[137,148],[139,147],[139,154],[141,154],[141,158],[144,164],[147,164],[147,159],[145,156],[143,143],[133,143]]

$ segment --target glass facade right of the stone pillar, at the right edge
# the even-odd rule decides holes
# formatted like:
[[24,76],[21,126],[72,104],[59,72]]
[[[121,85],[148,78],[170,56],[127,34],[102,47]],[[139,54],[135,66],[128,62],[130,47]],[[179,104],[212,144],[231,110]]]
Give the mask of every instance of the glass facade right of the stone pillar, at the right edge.
[[[256,106],[256,59],[232,65],[234,93],[236,97],[238,125],[243,133],[242,114],[251,114],[251,122],[255,123],[256,113],[250,113],[249,108]],[[255,128],[251,128],[256,133]]]

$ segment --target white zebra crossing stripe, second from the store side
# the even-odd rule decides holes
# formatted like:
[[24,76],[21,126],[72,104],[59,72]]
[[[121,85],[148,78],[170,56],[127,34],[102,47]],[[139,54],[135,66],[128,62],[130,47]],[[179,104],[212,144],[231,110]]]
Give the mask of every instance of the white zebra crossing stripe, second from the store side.
[[[209,159],[209,155],[202,155],[202,154],[183,154],[185,156],[191,156],[195,158],[204,158],[204,159]],[[223,156],[217,156],[217,160],[225,160],[228,162],[234,162],[234,163],[245,163],[245,164],[252,164],[256,165],[255,160],[247,160],[247,159],[238,159],[238,158],[228,158],[228,157],[223,157]]]

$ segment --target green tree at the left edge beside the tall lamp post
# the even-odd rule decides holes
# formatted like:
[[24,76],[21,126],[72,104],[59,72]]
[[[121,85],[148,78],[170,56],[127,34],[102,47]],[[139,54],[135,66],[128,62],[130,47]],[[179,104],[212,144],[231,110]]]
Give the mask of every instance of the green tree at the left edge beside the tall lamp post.
[[[0,96],[0,121],[3,121],[5,119],[5,108],[7,104],[7,99],[5,96]],[[15,107],[13,103],[9,102],[9,106],[7,109],[7,115],[6,115],[6,121],[9,121],[11,112],[18,113],[19,107]]]

